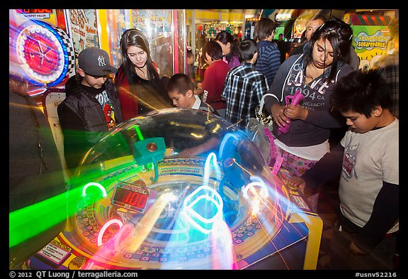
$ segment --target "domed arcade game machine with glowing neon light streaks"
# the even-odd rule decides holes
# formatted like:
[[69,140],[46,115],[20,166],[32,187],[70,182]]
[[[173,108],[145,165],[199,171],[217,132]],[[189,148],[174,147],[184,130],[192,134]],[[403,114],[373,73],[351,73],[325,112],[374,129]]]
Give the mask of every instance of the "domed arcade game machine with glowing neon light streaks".
[[49,202],[56,217],[64,199],[67,226],[23,268],[315,269],[322,219],[285,179],[219,116],[137,116],[96,143],[68,194]]

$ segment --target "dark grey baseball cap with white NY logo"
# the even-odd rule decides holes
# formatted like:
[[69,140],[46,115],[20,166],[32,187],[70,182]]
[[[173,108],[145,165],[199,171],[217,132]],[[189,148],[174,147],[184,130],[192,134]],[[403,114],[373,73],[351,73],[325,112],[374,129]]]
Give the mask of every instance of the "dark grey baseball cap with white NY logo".
[[78,55],[78,67],[87,75],[103,76],[116,72],[118,69],[112,67],[109,55],[100,48],[85,48]]

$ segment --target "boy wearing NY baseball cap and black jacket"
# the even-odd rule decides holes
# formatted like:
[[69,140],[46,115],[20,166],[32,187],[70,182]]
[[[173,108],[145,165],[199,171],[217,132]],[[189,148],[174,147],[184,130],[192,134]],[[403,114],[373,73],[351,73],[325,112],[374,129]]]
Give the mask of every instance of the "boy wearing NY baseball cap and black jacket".
[[122,122],[118,92],[108,77],[116,71],[105,50],[86,48],[78,55],[77,75],[65,84],[67,97],[57,111],[64,157],[72,171],[89,148]]

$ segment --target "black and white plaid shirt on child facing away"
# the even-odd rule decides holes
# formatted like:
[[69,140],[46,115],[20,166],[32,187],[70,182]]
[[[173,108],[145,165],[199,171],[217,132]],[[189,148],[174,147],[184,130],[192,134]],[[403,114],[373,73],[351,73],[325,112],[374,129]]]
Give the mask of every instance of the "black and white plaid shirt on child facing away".
[[255,117],[255,107],[268,91],[266,77],[254,68],[254,64],[242,62],[229,70],[221,97],[227,102],[225,118],[245,128],[251,117]]

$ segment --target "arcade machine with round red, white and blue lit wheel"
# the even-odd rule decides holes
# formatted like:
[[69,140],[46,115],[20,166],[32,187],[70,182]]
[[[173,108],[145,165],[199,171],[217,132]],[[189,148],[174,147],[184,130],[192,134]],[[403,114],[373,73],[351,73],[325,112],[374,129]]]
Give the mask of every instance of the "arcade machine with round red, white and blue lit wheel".
[[64,84],[75,75],[75,54],[67,15],[56,9],[9,10],[10,72],[28,80],[28,94],[38,103],[52,128],[67,178],[57,106]]

